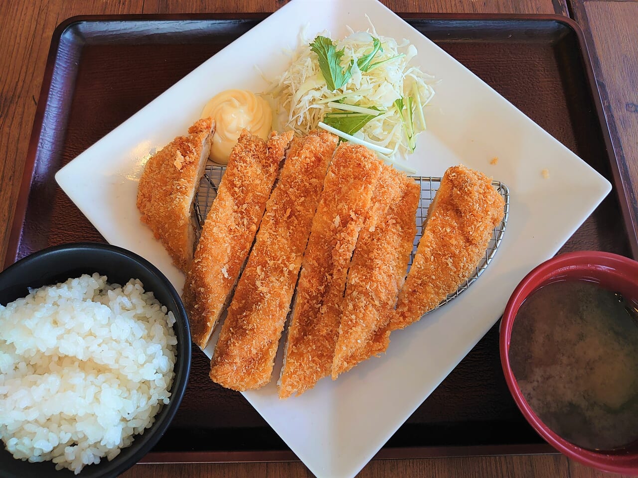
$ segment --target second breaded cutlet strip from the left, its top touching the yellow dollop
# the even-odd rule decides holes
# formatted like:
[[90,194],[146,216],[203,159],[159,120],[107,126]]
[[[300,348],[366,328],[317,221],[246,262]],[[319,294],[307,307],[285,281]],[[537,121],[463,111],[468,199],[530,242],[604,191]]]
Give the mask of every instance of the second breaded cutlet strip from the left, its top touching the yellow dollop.
[[267,143],[242,131],[204,222],[186,275],[184,306],[191,338],[201,349],[211,338],[262,220],[292,133],[271,133]]

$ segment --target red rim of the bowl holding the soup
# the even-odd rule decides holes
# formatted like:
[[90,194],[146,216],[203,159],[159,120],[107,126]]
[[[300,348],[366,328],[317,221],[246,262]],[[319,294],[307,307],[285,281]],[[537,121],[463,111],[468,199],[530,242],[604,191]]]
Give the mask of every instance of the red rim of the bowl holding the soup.
[[[525,400],[518,386],[516,377],[514,377],[514,372],[512,372],[508,356],[514,319],[525,298],[537,290],[538,287],[545,284],[547,280],[558,277],[561,271],[564,272],[566,268],[571,268],[572,270],[574,268],[582,270],[595,269],[600,273],[611,273],[612,266],[609,264],[623,264],[624,266],[632,266],[638,269],[638,262],[629,257],[598,250],[582,250],[554,256],[531,270],[516,286],[516,289],[514,289],[514,292],[507,302],[505,312],[503,312],[499,337],[501,366],[503,368],[503,374],[505,375],[505,382],[507,382],[507,387],[517,407],[521,410],[521,413],[534,430],[550,445],[569,458],[588,465],[589,467],[597,468],[605,472],[637,474],[638,453],[592,451],[568,442],[565,438],[560,437],[547,427]],[[599,267],[597,268],[596,266]]]

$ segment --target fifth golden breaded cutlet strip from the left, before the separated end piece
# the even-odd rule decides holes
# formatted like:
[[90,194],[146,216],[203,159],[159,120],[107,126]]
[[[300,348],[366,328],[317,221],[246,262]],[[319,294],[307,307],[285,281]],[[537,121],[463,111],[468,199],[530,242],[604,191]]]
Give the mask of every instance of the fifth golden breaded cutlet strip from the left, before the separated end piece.
[[383,166],[373,205],[359,234],[332,360],[332,379],[361,361],[385,352],[390,321],[403,285],[414,236],[420,186]]

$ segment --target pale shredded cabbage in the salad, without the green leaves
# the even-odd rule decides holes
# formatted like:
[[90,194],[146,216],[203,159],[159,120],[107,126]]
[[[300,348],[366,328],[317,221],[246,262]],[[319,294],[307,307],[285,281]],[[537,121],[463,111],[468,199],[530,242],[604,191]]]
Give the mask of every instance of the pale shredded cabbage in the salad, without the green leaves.
[[[395,101],[412,98],[413,134],[424,131],[424,108],[434,95],[431,86],[434,76],[410,65],[417,55],[417,48],[407,40],[397,43],[394,38],[380,36],[374,26],[371,26],[371,31],[354,32],[351,29],[350,32],[343,40],[334,42],[338,50],[345,49],[341,66],[346,67],[353,61],[352,77],[343,87],[336,91],[328,89],[317,55],[309,47],[311,40],[302,31],[300,45],[292,53],[290,67],[272,80],[262,96],[271,103],[275,126],[278,129],[293,129],[297,134],[306,134],[318,127],[325,113],[339,111],[331,108],[330,102],[380,108],[382,113],[353,136],[392,150],[390,154],[383,155],[383,159],[396,159],[400,163],[401,157],[412,152],[412,148]],[[330,37],[329,33],[324,35]],[[371,52],[373,37],[381,41],[383,51],[379,51],[372,61],[376,66],[368,71],[360,71],[357,60]]]

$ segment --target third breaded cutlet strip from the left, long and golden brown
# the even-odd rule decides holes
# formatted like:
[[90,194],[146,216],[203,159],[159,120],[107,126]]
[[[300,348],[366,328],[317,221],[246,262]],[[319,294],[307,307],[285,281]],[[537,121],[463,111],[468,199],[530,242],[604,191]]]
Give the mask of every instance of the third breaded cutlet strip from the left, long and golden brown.
[[286,155],[221,328],[211,379],[244,391],[271,380],[323,180],[337,137],[311,131]]

